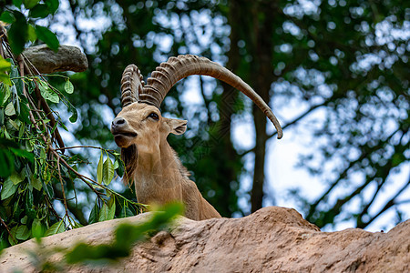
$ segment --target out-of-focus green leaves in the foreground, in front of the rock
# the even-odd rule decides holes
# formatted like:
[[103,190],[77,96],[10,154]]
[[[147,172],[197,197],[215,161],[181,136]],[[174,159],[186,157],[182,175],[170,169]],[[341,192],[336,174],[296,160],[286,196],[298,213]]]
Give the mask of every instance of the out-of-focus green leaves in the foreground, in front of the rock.
[[[68,248],[50,248],[44,240],[36,237],[37,248],[27,251],[32,265],[39,272],[67,271],[68,267],[76,265],[81,269],[93,267],[108,267],[115,265],[130,255],[132,248],[155,236],[159,231],[175,227],[174,220],[183,213],[181,204],[173,203],[151,211],[150,216],[139,224],[121,223],[114,228],[113,239],[109,243],[89,245],[82,241],[74,242]],[[58,262],[51,257],[59,253]],[[15,270],[18,270],[18,265]]]

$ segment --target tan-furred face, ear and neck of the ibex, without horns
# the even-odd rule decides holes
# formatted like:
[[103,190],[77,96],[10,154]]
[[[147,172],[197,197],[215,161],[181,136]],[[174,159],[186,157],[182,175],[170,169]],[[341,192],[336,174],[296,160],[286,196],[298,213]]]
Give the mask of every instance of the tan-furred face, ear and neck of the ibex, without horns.
[[[149,117],[155,113],[159,120]],[[121,124],[114,126],[118,119]],[[144,103],[132,103],[118,114],[111,128],[128,170],[128,181],[135,183],[138,202],[185,204],[185,216],[193,220],[220,217],[220,214],[200,194],[182,166],[176,152],[169,147],[169,133],[185,132],[187,121],[161,116],[159,109]],[[134,153],[134,154],[130,154]]]

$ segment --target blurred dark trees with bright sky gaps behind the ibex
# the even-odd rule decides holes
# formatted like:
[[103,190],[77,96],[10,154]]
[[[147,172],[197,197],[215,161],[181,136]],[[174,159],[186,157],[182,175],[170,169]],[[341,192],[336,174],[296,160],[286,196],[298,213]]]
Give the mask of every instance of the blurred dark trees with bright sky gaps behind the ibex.
[[[306,145],[314,149],[300,166],[327,187],[316,200],[292,189],[305,216],[319,227],[345,219],[366,227],[388,209],[400,221],[399,205],[408,202],[407,180],[384,206],[374,204],[395,173],[408,171],[408,16],[409,8],[395,0],[70,0],[54,18],[72,26],[89,58],[87,74],[73,78],[79,139],[113,146],[106,114],[119,110],[119,79],[129,63],[147,75],[168,56],[207,56],[241,76],[276,114],[286,113],[290,102],[300,105],[282,125],[299,126],[312,139]],[[274,136],[266,118],[252,111],[255,147],[246,151],[231,135],[232,118],[250,109],[238,92],[206,77],[175,89],[163,111],[189,119],[190,130],[170,142],[204,196],[223,216],[248,213],[238,206],[238,189],[244,155],[251,153],[251,211],[261,207],[266,144]]]

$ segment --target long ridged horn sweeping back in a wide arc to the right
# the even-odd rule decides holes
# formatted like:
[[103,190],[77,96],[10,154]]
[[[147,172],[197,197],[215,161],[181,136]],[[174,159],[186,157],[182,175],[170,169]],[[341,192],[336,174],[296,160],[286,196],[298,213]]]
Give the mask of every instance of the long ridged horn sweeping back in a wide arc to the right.
[[178,56],[170,57],[167,62],[160,64],[152,72],[139,93],[138,101],[147,103],[152,106],[160,107],[169,89],[174,86],[180,79],[190,75],[205,75],[220,79],[225,83],[240,90],[244,95],[251,98],[256,106],[260,107],[262,112],[267,116],[275,126],[278,132],[278,138],[282,138],[282,127],[276,116],[273,115],[271,108],[263,101],[248,84],[239,76],[234,75],[227,68],[210,61],[206,57],[199,56]]

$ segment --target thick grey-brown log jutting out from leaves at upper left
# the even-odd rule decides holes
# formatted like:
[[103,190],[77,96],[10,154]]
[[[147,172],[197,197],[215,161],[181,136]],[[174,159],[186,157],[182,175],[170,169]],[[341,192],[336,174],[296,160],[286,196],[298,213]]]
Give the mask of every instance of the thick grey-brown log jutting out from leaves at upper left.
[[87,57],[77,46],[60,45],[54,52],[47,45],[36,45],[26,48],[23,54],[41,74],[83,72],[88,68]]

